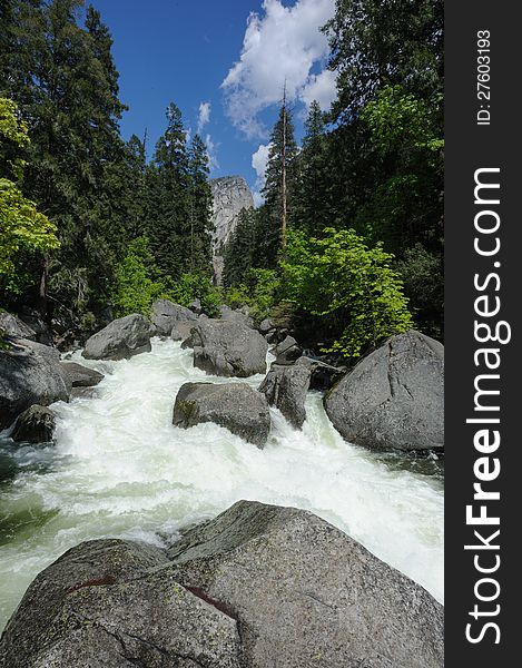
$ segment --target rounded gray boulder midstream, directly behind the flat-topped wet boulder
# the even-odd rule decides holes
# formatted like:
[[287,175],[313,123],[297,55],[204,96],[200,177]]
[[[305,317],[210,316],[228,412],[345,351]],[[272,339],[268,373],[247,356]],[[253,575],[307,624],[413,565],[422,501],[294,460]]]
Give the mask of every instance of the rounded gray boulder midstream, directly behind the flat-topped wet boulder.
[[199,320],[183,347],[194,348],[194,365],[221,376],[266,372],[268,344],[255,330],[236,322]]

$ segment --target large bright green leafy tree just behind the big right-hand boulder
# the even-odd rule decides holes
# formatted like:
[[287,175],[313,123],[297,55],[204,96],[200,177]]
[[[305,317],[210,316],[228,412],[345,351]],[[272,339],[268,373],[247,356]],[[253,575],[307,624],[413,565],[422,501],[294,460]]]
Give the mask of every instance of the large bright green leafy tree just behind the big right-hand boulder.
[[326,352],[356,358],[368,346],[413,325],[402,283],[382,245],[368,248],[353,230],[324,230],[322,239],[294,232],[282,263],[287,297],[331,320],[338,338]]

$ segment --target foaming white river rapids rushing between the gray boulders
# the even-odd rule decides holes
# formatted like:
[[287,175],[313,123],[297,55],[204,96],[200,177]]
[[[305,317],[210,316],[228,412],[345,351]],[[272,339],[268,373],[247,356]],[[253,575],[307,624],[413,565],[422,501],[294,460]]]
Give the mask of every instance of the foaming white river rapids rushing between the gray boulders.
[[56,443],[0,445],[14,470],[0,487],[0,629],[35,576],[72,546],[106,537],[168,546],[239,499],[311,510],[443,600],[442,478],[346,443],[319,393],[308,394],[303,431],[270,409],[258,450],[215,424],[173,426],[183,383],[230,382],[194,369],[179,343],[155,338],[151,353],[121,362],[72,360],[106,377],[92,399],[53,405]]

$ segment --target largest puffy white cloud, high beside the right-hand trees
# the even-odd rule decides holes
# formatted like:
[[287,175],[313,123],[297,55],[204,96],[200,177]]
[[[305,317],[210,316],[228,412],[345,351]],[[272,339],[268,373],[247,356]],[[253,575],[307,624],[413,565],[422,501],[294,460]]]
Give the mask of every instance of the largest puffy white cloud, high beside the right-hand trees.
[[227,112],[248,137],[265,135],[257,115],[280,100],[285,81],[290,101],[306,102],[313,92],[322,104],[332,97],[334,77],[312,75],[312,69],[328,55],[319,28],[334,9],[335,0],[296,0],[293,7],[264,0],[264,13],[250,13],[240,58],[221,84]]

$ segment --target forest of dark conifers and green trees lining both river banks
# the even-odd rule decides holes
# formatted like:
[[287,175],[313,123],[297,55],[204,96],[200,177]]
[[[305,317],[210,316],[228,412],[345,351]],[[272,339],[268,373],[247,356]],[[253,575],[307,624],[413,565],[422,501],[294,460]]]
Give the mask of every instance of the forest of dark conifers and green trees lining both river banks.
[[161,296],[287,318],[357,358],[443,323],[443,3],[338,0],[324,27],[337,99],[302,146],[284,98],[265,204],[211,281],[203,140],[171,104],[146,159],[124,141],[112,40],[81,0],[0,0],[0,303],[85,337]]

